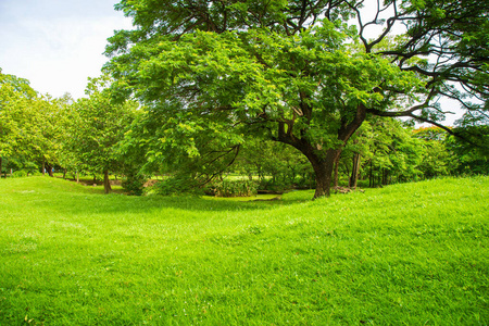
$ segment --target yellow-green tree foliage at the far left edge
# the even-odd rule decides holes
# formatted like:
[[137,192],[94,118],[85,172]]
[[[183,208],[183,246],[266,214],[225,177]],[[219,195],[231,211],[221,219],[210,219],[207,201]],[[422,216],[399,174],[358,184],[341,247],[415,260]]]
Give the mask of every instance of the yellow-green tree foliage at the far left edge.
[[70,102],[38,95],[28,80],[0,70],[0,158],[9,167],[51,171],[60,163]]

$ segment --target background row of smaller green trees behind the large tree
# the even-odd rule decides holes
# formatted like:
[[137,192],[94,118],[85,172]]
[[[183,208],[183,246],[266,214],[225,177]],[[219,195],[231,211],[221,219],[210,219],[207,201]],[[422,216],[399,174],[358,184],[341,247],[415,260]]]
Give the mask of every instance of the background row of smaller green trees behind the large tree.
[[[13,75],[0,73],[0,168],[4,177],[11,170],[16,176],[52,176],[53,170],[75,179],[79,174],[95,175],[103,179],[109,192],[109,175],[117,174],[131,193],[141,193],[152,175],[167,176],[160,187],[164,193],[188,191],[210,181],[215,186],[226,174],[254,180],[254,191],[315,187],[314,170],[300,151],[260,137],[248,138],[236,152],[213,152],[211,147],[203,156],[181,155],[183,148],[175,146],[174,161],[159,160],[163,153],[147,146],[151,137],[159,137],[147,128],[150,111],[135,101],[114,103],[108,76],[90,79],[87,98],[77,101],[68,95],[59,99],[41,96],[28,80]],[[479,139],[489,137],[487,125],[457,130]],[[333,186],[377,187],[488,172],[488,151],[463,138],[436,126],[414,128],[396,118],[373,117],[342,150]],[[233,189],[228,195],[249,195],[248,188],[239,191]]]

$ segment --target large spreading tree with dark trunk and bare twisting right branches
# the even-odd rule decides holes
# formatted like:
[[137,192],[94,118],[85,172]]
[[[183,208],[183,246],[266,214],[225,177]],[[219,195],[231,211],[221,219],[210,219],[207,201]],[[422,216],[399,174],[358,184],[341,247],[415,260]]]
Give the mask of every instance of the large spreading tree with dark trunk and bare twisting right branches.
[[233,149],[260,134],[308,158],[317,198],[329,195],[334,165],[369,114],[443,127],[446,97],[473,120],[487,117],[488,7],[122,0],[116,9],[136,28],[110,38],[106,68],[120,96],[135,95],[159,129],[172,130],[149,139],[161,156],[178,146],[198,155],[215,139]]

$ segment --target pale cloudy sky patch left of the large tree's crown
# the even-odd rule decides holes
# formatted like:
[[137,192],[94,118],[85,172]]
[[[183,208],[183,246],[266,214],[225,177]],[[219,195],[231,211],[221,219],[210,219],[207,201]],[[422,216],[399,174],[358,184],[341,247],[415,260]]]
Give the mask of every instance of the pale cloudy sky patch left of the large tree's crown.
[[53,97],[85,96],[109,59],[102,53],[116,29],[131,21],[117,0],[0,0],[0,68]]

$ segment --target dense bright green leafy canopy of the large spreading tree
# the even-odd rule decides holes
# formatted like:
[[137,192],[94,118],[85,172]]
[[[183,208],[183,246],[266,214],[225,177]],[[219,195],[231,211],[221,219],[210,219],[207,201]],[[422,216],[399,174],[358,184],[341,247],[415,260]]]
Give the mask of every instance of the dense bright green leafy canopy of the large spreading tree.
[[[251,135],[294,147],[324,178],[331,151],[346,145],[367,109],[402,109],[426,93],[424,78],[362,49],[356,28],[333,18],[354,13],[347,3],[276,4],[198,5],[220,25],[200,28],[201,18],[191,26],[178,18],[184,3],[120,3],[138,28],[110,39],[115,55],[106,70],[115,95],[133,93],[147,106],[136,137],[151,148],[149,160],[200,160],[201,167],[209,142],[226,151]],[[329,187],[321,185],[319,195]]]

